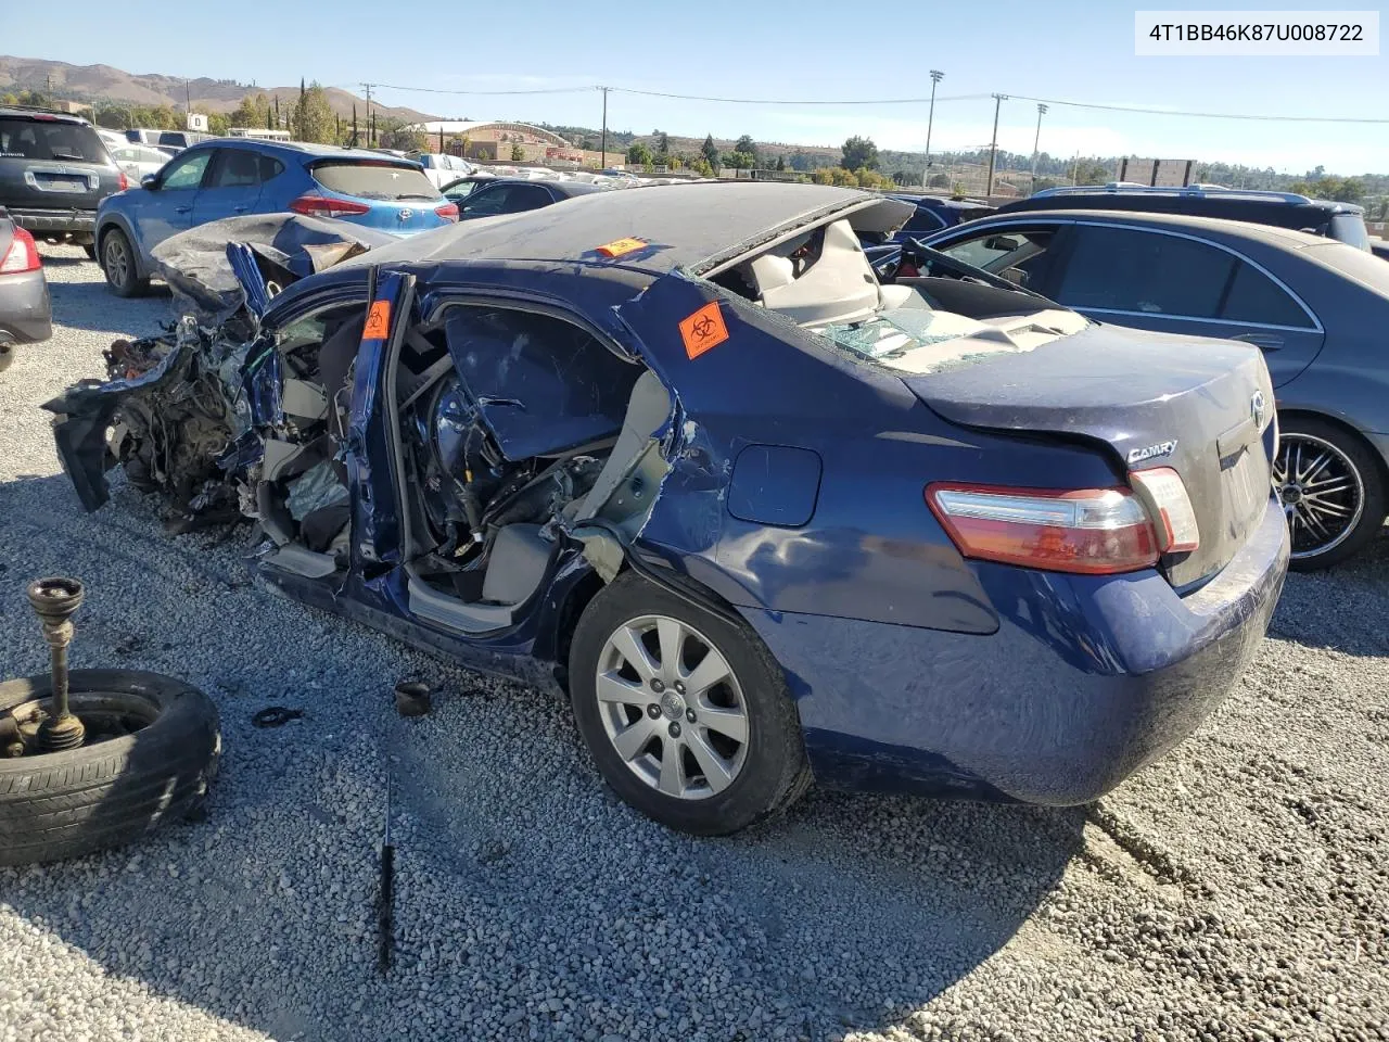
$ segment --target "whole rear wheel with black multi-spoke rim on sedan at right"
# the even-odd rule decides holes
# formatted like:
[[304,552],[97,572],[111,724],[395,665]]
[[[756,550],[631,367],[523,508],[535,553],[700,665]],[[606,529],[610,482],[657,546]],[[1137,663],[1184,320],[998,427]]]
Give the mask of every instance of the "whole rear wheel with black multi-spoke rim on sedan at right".
[[1331,568],[1360,553],[1389,513],[1383,467],[1371,449],[1314,417],[1281,421],[1274,486],[1288,514],[1295,571]]

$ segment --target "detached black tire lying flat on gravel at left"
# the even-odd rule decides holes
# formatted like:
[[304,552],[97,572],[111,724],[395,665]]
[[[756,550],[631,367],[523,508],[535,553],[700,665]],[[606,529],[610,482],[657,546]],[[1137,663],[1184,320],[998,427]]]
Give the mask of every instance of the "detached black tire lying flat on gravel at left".
[[[149,722],[63,753],[0,759],[0,866],[54,861],[125,843],[196,810],[217,772],[217,709],[171,677],[74,670],[72,709]],[[47,674],[0,684],[0,713],[47,699]]]

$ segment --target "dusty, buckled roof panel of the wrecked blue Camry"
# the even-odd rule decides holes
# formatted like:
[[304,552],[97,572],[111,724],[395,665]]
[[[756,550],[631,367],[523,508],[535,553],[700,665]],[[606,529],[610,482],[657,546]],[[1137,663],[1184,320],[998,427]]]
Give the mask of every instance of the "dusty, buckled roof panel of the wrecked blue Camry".
[[[614,261],[656,275],[681,267],[700,274],[711,272],[796,228],[867,210],[875,213],[861,220],[888,229],[896,228],[913,213],[901,200],[858,189],[765,181],[696,182],[669,185],[661,190],[597,190],[583,193],[563,207],[483,217],[415,235],[338,267],[604,261],[597,253],[600,246],[639,239],[646,246]],[[717,214],[718,220],[710,220],[711,214]]]

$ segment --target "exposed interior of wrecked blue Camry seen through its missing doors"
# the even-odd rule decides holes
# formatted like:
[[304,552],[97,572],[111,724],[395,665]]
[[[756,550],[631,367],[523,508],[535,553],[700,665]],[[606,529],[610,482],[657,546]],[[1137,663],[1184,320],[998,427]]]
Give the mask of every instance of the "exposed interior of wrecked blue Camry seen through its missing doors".
[[[343,445],[363,324],[363,304],[338,306],[278,338],[286,422],[254,496],[268,561],[310,578],[350,553]],[[558,522],[621,528],[664,472],[649,449],[665,388],[563,318],[446,307],[406,335],[389,386],[411,609],[457,631],[510,625],[544,585]]]

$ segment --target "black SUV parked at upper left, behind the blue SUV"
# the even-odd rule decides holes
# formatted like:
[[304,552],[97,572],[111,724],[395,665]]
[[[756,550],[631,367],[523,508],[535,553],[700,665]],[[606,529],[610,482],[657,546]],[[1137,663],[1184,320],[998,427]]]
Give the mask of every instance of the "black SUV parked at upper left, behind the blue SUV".
[[0,106],[0,207],[36,239],[76,242],[94,257],[96,207],[128,186],[86,119]]

